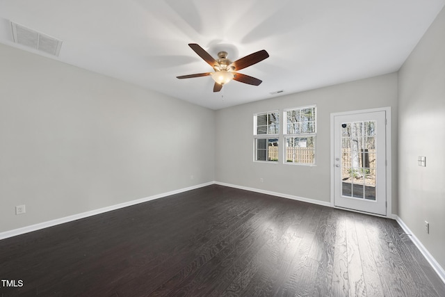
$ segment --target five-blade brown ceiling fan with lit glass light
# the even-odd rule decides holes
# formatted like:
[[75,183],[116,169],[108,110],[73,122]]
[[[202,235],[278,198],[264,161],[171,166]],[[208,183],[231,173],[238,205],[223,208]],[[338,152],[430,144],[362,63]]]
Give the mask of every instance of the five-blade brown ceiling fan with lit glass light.
[[188,46],[191,47],[191,49],[193,49],[193,51],[195,51],[195,53],[204,61],[211,65],[215,71],[182,75],[177,77],[178,79],[191,79],[193,77],[207,77],[210,75],[213,81],[215,81],[213,92],[219,92],[223,88],[223,85],[232,79],[241,83],[248,83],[252,86],[259,86],[259,84],[263,82],[254,77],[249,77],[248,75],[235,71],[249,67],[268,58],[269,54],[264,49],[232,62],[227,58],[227,51],[220,51],[218,53],[218,60],[215,60],[207,51],[200,47],[200,45],[189,43]]

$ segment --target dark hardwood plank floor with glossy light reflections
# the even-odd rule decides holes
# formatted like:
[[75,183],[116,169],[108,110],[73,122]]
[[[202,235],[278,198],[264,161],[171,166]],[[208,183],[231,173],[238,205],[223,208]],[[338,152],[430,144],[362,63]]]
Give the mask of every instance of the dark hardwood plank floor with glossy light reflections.
[[445,296],[396,221],[207,186],[0,241],[0,296]]

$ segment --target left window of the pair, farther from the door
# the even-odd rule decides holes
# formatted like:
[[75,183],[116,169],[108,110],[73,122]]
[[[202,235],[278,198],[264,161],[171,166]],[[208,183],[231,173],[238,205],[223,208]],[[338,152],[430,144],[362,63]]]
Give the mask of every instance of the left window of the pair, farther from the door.
[[280,114],[278,111],[254,115],[254,161],[278,161]]

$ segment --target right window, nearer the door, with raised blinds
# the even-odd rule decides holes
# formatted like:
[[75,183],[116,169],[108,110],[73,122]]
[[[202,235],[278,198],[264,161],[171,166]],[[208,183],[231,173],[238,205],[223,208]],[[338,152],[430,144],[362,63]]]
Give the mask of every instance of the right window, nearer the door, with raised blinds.
[[285,163],[315,164],[316,106],[284,111]]

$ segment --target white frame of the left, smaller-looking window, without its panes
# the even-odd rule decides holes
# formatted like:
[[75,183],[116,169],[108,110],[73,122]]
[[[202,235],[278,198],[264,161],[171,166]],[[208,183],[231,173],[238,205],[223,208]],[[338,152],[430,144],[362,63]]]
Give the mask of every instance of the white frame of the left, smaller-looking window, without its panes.
[[[266,125],[266,133],[265,134],[258,134],[258,122],[257,122],[257,118],[259,115],[269,115],[275,113],[278,117],[277,119],[277,125],[278,125],[278,133],[268,133],[269,132],[269,124]],[[268,118],[267,118],[268,120]],[[280,110],[275,109],[273,111],[264,111],[261,113],[254,113],[254,117],[253,117],[253,161],[254,162],[259,162],[259,163],[279,163],[280,162],[280,131],[281,131],[281,119],[280,119]],[[266,160],[259,160],[258,159],[258,147],[257,147],[257,141],[259,139],[266,139]],[[277,159],[275,160],[268,160],[269,159],[269,145],[268,143],[270,142],[270,140],[277,140]],[[262,149],[261,149],[262,150]]]

